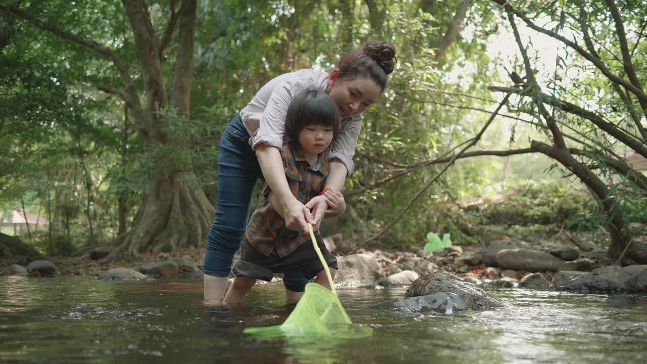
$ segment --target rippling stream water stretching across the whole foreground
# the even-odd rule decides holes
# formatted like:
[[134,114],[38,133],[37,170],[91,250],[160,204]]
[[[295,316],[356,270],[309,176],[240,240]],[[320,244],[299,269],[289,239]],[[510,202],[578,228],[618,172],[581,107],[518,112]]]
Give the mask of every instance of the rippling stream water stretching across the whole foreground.
[[243,307],[202,306],[195,281],[0,277],[0,361],[17,363],[644,363],[647,295],[495,291],[503,308],[465,315],[371,308],[404,289],[339,290],[362,339],[253,337],[294,306],[280,284]]

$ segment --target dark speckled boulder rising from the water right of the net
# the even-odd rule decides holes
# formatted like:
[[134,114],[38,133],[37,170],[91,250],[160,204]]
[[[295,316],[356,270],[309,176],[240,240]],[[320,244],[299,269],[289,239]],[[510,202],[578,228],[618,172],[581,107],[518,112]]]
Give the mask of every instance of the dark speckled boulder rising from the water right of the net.
[[447,271],[437,271],[415,280],[404,297],[418,297],[434,293],[454,293],[465,301],[468,310],[484,310],[503,304],[474,284],[465,282]]

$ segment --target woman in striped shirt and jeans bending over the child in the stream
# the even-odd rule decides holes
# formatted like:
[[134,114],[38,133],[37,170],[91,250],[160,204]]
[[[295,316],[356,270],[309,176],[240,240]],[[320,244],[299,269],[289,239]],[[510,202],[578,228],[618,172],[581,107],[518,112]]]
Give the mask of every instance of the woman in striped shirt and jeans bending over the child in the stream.
[[[364,49],[344,54],[338,68],[329,74],[302,69],[270,80],[234,117],[220,142],[216,212],[204,253],[205,304],[220,304],[225,295],[258,177],[265,179],[276,196],[290,229],[307,234],[307,222],[314,222],[316,228],[328,207],[325,196],[303,205],[288,187],[279,149],[292,97],[308,89],[325,91],[339,107],[342,122],[327,156],[325,187],[342,190],[345,178],[353,172],[362,113],[382,95],[395,62],[393,45],[367,43]],[[307,280],[294,272],[286,273],[283,283],[288,301],[298,301]]]

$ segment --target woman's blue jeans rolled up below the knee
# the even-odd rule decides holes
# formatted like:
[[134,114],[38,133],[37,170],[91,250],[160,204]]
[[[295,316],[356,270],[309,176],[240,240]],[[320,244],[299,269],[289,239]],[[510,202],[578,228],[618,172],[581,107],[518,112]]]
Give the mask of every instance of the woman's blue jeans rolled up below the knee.
[[[256,179],[263,179],[256,153],[249,145],[249,133],[236,115],[220,139],[218,154],[218,201],[214,224],[207,236],[204,274],[228,277],[234,253],[245,235]],[[301,272],[283,274],[283,284],[302,292],[308,280]]]

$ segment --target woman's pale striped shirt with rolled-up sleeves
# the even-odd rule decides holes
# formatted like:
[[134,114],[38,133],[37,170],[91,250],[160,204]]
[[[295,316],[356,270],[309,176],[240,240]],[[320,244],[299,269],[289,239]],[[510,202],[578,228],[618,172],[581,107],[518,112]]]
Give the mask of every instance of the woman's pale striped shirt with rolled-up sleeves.
[[[281,74],[265,84],[254,98],[241,110],[243,125],[250,138],[249,144],[256,150],[258,144],[281,148],[285,137],[285,116],[292,97],[305,90],[325,91],[329,74],[301,69]],[[355,168],[353,155],[357,139],[362,130],[362,115],[351,115],[340,122],[339,133],[333,142],[333,149],[327,160],[337,158],[348,169],[347,177]]]

